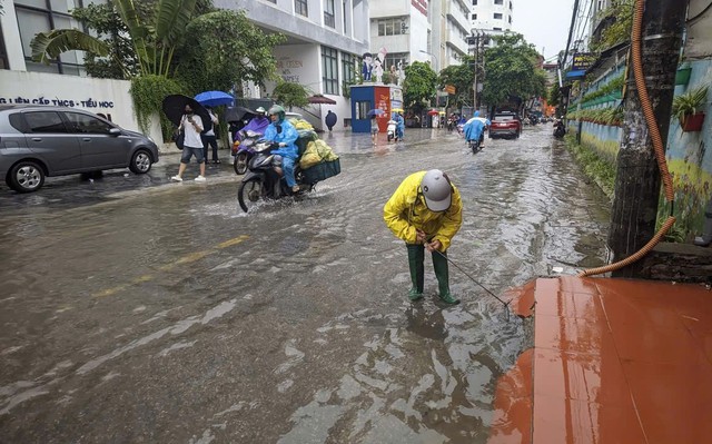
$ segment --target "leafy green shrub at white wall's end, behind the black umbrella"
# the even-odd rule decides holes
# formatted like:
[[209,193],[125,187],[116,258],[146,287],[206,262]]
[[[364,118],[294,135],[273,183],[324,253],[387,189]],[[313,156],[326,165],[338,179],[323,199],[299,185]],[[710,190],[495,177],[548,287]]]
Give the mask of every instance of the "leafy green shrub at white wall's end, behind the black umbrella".
[[162,76],[148,75],[131,79],[129,92],[134,99],[136,120],[141,131],[149,131],[150,118],[152,115],[158,114],[164,140],[170,140],[172,124],[162,112],[162,101],[166,96],[184,93],[185,90],[186,88],[179,82]]

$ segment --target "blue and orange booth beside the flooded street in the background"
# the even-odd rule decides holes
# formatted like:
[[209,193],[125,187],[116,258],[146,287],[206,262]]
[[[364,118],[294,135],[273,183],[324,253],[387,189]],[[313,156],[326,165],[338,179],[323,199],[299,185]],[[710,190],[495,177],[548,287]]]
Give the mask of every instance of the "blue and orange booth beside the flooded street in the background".
[[353,132],[370,132],[370,116],[374,112],[377,112],[379,132],[386,132],[393,110],[403,109],[403,89],[395,85],[353,85],[350,96]]

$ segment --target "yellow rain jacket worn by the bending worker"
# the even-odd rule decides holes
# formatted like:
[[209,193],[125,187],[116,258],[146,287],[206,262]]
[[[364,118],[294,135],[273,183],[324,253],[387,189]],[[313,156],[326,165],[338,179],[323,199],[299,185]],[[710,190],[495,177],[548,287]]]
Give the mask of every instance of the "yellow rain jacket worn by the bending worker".
[[428,239],[439,240],[442,250],[449,247],[453,236],[463,225],[463,203],[459,191],[453,187],[452,204],[445,211],[431,211],[425,205],[421,181],[426,171],[406,177],[383,208],[383,218],[394,235],[406,244],[416,243],[416,229],[425,231]]

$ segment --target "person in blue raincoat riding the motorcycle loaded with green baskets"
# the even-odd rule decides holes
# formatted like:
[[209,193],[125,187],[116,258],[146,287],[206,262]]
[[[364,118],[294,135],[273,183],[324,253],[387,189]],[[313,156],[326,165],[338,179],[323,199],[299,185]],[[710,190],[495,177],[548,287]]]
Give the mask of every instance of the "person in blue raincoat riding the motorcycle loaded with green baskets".
[[299,157],[299,150],[295,141],[299,138],[299,132],[288,120],[285,119],[285,109],[279,105],[269,108],[269,119],[271,124],[265,130],[265,140],[279,144],[279,149],[273,150],[275,156],[275,170],[279,176],[285,177],[287,186],[291,193],[299,191],[299,186],[294,177],[294,165]]

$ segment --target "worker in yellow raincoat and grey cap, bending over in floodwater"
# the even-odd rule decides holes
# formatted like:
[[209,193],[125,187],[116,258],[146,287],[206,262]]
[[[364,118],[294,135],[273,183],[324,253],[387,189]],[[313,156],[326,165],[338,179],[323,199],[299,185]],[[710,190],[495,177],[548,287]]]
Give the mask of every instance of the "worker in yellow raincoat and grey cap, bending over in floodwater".
[[[459,191],[438,170],[406,177],[386,203],[383,218],[393,234],[405,240],[413,287],[411,300],[423,297],[425,248],[433,254],[439,297],[447,304],[459,300],[449,293],[447,247],[463,223]],[[439,251],[439,253],[438,253]]]

